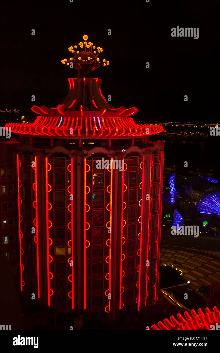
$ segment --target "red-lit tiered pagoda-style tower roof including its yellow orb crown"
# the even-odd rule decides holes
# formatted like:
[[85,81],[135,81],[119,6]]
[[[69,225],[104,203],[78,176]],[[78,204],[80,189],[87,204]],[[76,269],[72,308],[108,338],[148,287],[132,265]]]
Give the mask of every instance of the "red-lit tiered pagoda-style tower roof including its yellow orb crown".
[[[83,36],[83,39],[88,39],[88,36]],[[33,106],[31,110],[38,114],[36,120],[32,124],[6,124],[11,127],[11,132],[65,138],[126,138],[146,137],[163,131],[161,125],[136,124],[131,115],[138,112],[137,108],[114,107],[105,99],[101,89],[102,79],[92,78],[91,75],[98,66],[108,65],[109,61],[97,58],[102,48],[98,47],[95,52],[93,43],[84,44],[85,51],[80,42],[80,50],[76,53],[73,47],[69,48],[73,58],[62,60],[63,64],[73,65],[79,72],[79,77],[68,79],[69,93],[63,102],[54,107]],[[74,48],[77,49],[77,46]]]

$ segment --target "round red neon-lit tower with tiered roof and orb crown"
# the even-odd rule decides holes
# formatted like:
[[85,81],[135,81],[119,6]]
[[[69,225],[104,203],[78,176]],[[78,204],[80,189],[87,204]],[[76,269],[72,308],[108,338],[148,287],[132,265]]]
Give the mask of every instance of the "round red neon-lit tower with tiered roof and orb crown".
[[[149,135],[163,127],[135,124],[137,108],[106,101],[92,73],[109,61],[83,39],[62,60],[78,71],[64,101],[33,106],[32,124],[6,125],[20,137],[18,272],[26,297],[114,321],[124,306],[138,311],[160,299],[164,145]],[[116,162],[123,171],[111,168]]]

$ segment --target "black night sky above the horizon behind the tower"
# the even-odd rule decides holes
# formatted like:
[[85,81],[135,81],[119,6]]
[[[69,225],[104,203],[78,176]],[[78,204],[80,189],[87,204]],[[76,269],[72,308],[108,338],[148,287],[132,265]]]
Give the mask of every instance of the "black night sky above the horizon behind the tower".
[[[177,25],[199,27],[198,40],[171,37]],[[77,73],[60,60],[84,34],[110,61],[95,76],[114,106],[135,106],[134,118],[145,121],[218,120],[217,0],[7,2],[1,7],[0,108],[31,116],[34,104],[59,104],[67,78]]]

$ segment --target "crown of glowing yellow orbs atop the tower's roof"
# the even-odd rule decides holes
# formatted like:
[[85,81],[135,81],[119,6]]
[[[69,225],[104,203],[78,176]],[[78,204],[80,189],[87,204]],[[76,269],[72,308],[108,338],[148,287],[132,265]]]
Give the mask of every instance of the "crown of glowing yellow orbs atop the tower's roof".
[[109,61],[106,59],[100,60],[99,54],[103,52],[100,47],[95,47],[93,43],[87,43],[88,36],[85,34],[83,36],[84,42],[79,43],[79,47],[75,45],[74,47],[69,47],[69,52],[72,54],[68,59],[61,60],[63,65],[70,66],[70,68],[75,68],[78,71],[94,71],[100,65],[109,65]]

